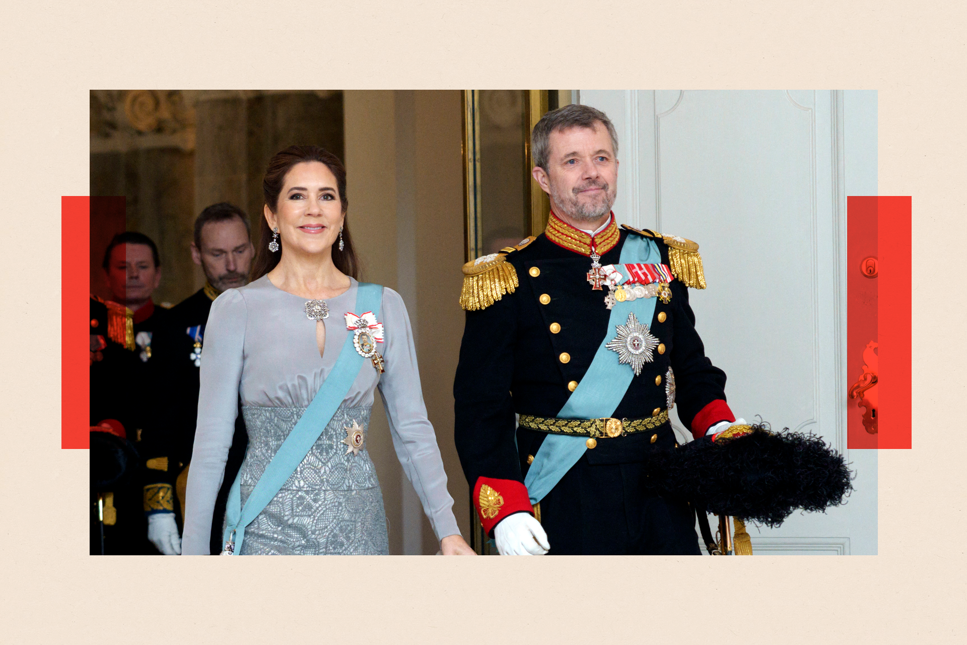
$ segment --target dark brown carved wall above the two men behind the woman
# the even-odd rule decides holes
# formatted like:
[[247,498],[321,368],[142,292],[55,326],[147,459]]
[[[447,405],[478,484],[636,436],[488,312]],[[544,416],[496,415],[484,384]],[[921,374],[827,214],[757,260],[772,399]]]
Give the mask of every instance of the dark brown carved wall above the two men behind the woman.
[[269,158],[294,143],[342,158],[342,131],[338,91],[95,90],[91,195],[127,198],[127,229],[150,236],[161,253],[155,301],[175,304],[204,282],[189,250],[198,213],[231,201],[257,235]]

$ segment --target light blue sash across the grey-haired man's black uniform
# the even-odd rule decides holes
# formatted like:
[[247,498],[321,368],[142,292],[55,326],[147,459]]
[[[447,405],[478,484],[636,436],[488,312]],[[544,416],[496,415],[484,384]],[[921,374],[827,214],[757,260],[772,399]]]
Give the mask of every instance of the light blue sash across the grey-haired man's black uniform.
[[[657,264],[661,261],[658,245],[639,235],[629,235],[621,249],[621,263],[641,262]],[[601,296],[603,301],[603,295]],[[604,303],[601,303],[601,307]],[[629,365],[618,363],[618,354],[605,344],[615,337],[615,327],[628,322],[628,314],[634,312],[642,325],[651,325],[655,315],[655,298],[637,298],[633,301],[618,303],[611,308],[608,319],[608,333],[601,341],[591,366],[568,397],[557,416],[561,419],[600,419],[610,417],[618,408],[621,399],[628,392],[634,372]],[[586,451],[584,437],[571,437],[566,434],[548,434],[541,444],[534,462],[527,471],[524,485],[531,498],[531,504],[540,502],[550,489],[557,485],[571,466],[577,463]]]

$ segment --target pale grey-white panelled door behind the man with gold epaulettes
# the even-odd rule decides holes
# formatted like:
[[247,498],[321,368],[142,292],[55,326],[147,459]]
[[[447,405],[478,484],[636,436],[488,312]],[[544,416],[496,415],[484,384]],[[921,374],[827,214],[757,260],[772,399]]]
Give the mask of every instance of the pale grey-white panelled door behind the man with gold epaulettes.
[[[846,195],[875,195],[876,93],[597,91],[619,136],[619,222],[700,246],[690,303],[729,406],[821,436],[848,503],[748,526],[755,554],[875,554],[876,451],[847,451]],[[684,433],[677,417],[677,431]]]

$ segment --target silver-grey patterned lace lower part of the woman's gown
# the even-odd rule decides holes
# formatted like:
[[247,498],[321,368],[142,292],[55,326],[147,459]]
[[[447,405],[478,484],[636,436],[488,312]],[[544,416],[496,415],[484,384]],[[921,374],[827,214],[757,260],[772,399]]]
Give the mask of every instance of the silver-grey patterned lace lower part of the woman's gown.
[[[243,406],[249,449],[242,504],[306,408]],[[239,555],[387,554],[386,512],[364,443],[354,454],[346,427],[368,428],[368,407],[340,407],[292,476],[246,527]],[[347,452],[348,450],[348,452]]]

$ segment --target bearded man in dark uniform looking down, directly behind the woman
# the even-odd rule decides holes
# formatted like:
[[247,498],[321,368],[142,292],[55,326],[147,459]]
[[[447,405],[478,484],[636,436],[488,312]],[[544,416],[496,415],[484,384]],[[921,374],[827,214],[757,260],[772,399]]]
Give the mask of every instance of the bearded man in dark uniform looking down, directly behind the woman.
[[[201,366],[205,324],[212,302],[225,289],[249,282],[254,256],[249,218],[232,204],[209,206],[194,221],[191,258],[205,273],[205,285],[168,313],[168,322],[155,338],[159,389],[156,418],[159,431],[169,441],[167,480],[173,484],[178,504],[174,511],[184,515],[185,489],[194,444],[198,414],[198,372]],[[248,436],[241,411],[235,421],[235,436],[228,453],[225,476],[216,501],[212,524],[212,552],[220,552],[221,517],[228,489],[245,457]]]

